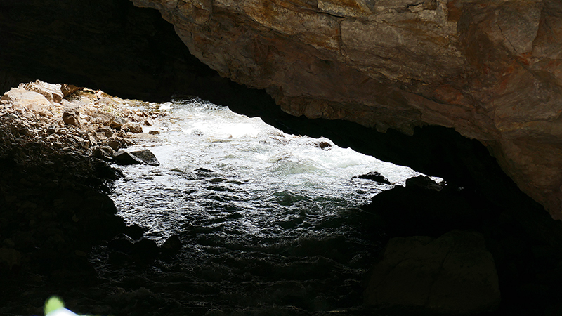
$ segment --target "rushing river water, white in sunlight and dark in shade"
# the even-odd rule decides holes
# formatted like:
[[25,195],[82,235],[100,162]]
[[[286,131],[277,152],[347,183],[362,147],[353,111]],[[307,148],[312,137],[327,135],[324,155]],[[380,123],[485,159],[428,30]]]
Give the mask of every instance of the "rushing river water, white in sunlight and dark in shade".
[[[98,258],[101,275],[141,273],[143,289],[183,315],[360,308],[384,233],[359,206],[418,173],[201,100],[152,106],[169,112],[146,128],[161,131],[159,141],[143,144],[161,164],[122,167],[112,199],[145,237],[176,235],[183,248],[143,272],[115,272]],[[393,185],[353,178],[370,171]]]

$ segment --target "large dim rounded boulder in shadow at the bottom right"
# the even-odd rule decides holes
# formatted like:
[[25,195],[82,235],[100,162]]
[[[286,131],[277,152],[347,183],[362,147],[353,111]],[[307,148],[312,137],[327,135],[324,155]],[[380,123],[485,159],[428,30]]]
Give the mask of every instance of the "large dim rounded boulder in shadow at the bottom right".
[[365,304],[400,312],[476,314],[499,305],[492,254],[478,232],[391,239],[374,265]]

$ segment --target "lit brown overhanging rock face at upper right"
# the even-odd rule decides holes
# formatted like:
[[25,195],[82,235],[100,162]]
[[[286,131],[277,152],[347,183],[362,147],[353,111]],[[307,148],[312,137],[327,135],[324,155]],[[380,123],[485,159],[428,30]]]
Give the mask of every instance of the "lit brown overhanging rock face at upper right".
[[289,114],[480,140],[562,218],[559,1],[131,1]]

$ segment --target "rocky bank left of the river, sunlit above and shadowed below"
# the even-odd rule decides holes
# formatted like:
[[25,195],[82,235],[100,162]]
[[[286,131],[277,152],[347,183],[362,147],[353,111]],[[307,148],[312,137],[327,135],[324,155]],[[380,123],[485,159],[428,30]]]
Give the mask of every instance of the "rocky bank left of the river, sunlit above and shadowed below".
[[[106,161],[159,115],[129,105],[143,104],[41,81],[1,97],[1,315],[40,314],[53,284],[96,282],[86,254],[128,229],[105,194],[119,176]],[[45,293],[20,295],[31,289]]]

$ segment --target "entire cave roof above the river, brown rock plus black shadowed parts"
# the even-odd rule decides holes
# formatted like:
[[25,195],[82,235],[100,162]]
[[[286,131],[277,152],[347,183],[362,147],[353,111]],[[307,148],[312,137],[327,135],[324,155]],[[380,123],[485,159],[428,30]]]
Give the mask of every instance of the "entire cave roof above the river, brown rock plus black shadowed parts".
[[517,189],[490,151],[557,218],[556,2],[133,2],[160,13],[0,0],[1,92],[41,79],[143,100],[197,95],[537,209],[502,193]]

